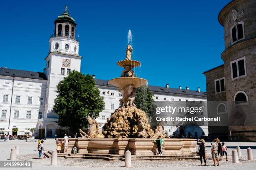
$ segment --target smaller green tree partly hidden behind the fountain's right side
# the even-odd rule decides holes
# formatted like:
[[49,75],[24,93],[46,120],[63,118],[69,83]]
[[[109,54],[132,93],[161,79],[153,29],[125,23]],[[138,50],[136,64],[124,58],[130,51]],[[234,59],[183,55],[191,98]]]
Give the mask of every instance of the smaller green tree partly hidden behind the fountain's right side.
[[152,104],[154,102],[153,99],[154,94],[149,91],[147,85],[143,85],[141,87],[138,87],[135,94],[135,101],[134,104],[137,106],[137,108],[143,110],[146,112],[146,115],[148,116],[149,120],[152,116]]

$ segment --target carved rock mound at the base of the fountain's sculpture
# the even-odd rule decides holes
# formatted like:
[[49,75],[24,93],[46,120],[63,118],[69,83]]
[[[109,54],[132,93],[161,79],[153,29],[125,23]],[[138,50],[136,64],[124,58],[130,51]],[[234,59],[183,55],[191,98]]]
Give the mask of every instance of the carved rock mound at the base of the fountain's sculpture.
[[134,106],[115,110],[103,126],[105,138],[153,138],[146,113]]

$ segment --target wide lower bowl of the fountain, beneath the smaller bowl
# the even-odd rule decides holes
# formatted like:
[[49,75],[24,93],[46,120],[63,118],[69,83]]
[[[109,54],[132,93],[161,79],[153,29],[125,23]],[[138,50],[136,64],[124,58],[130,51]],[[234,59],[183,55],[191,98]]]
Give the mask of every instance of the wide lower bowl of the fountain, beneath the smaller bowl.
[[135,88],[141,87],[142,85],[147,85],[148,80],[138,77],[118,77],[109,80],[110,84],[116,87],[124,88],[127,85],[133,85]]

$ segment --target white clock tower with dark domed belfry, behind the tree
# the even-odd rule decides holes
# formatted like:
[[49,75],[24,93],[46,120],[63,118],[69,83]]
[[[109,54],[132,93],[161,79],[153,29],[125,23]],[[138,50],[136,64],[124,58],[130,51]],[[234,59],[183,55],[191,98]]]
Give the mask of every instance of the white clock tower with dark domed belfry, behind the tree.
[[[44,74],[47,77],[46,87],[46,105],[44,111],[45,133],[49,124],[59,129],[58,116],[53,112],[54,99],[57,95],[56,86],[58,83],[69,75],[72,70],[80,72],[81,59],[79,56],[79,41],[76,38],[75,20],[69,15],[67,6],[64,12],[54,21],[54,33],[49,39],[49,54],[46,56],[46,68]],[[52,130],[52,134],[56,130]],[[47,134],[45,134],[47,136]]]

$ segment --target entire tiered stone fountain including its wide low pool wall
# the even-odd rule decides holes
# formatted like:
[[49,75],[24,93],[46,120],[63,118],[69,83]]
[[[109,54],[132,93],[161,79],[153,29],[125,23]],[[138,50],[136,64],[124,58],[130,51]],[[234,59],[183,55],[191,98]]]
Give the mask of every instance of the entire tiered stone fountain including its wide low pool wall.
[[[118,91],[123,96],[120,99],[120,107],[107,119],[102,128],[103,134],[99,133],[96,120],[88,117],[91,125],[88,135],[80,130],[83,138],[69,139],[68,152],[76,147],[81,158],[90,157],[90,154],[91,156],[101,154],[100,156],[104,155],[102,158],[112,158],[113,155],[109,154],[116,154],[119,155],[116,158],[122,160],[125,151],[130,150],[132,155],[136,155],[133,157],[136,160],[154,160],[152,157],[156,155],[154,141],[158,135],[162,135],[163,138],[167,138],[163,140],[165,160],[196,159],[195,139],[169,139],[160,126],[154,132],[146,113],[134,104],[136,88],[147,85],[148,81],[134,76],[133,68],[140,66],[141,62],[131,60],[132,50],[132,46],[128,44],[125,60],[117,62],[118,66],[124,68],[121,76],[109,80],[112,85],[118,87]],[[70,156],[72,157],[72,154],[69,154]],[[75,158],[78,157],[78,155],[75,156]]]

